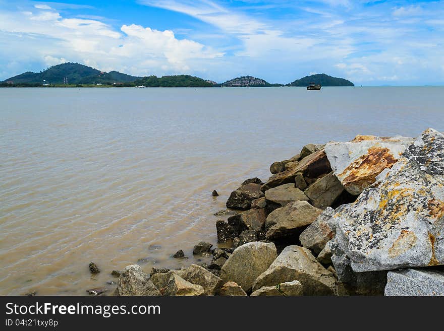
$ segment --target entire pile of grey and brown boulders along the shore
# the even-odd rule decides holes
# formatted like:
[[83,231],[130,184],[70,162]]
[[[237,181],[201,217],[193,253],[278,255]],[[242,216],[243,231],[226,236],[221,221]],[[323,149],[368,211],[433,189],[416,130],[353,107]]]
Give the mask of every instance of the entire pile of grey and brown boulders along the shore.
[[[442,295],[444,136],[306,145],[234,190],[209,265],[126,267],[119,295]],[[233,212],[235,210],[236,212]],[[222,248],[225,247],[225,248]],[[231,248],[226,248],[231,247]]]

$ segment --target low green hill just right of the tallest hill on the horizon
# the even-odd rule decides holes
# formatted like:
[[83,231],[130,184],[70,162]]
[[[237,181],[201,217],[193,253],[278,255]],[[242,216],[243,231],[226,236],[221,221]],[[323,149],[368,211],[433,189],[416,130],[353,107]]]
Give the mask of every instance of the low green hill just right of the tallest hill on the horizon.
[[145,87],[213,87],[212,83],[190,75],[148,76],[136,80],[134,84]]

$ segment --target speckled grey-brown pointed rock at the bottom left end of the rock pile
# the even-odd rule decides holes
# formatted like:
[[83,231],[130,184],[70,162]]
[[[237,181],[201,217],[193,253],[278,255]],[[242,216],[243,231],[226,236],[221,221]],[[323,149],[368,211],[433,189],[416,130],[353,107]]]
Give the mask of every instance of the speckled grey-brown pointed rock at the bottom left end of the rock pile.
[[117,288],[119,295],[160,295],[159,290],[149,280],[149,276],[137,264],[125,267],[119,277]]

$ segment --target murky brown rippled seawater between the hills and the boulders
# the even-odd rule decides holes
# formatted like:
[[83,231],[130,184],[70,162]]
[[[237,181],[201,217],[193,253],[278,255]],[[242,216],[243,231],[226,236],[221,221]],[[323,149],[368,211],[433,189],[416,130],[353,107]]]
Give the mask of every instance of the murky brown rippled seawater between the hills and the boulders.
[[128,264],[190,264],[243,179],[309,142],[443,131],[443,101],[442,87],[0,89],[0,295],[112,291]]

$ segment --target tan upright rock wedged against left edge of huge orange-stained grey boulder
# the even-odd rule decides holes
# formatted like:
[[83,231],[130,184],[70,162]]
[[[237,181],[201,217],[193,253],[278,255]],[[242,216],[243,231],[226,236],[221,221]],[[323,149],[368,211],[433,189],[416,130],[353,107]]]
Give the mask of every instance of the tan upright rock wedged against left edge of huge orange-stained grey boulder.
[[336,226],[330,223],[335,211],[327,207],[316,220],[311,223],[299,236],[302,246],[318,255],[325,244],[336,235]]

